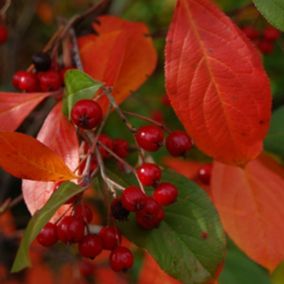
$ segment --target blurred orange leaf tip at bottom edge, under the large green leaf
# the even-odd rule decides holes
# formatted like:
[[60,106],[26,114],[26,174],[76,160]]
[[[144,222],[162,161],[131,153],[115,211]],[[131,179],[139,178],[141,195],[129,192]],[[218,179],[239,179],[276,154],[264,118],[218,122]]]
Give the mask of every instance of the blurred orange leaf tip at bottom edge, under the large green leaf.
[[143,265],[139,273],[138,284],[148,283],[179,284],[181,282],[167,275],[149,254],[145,254]]

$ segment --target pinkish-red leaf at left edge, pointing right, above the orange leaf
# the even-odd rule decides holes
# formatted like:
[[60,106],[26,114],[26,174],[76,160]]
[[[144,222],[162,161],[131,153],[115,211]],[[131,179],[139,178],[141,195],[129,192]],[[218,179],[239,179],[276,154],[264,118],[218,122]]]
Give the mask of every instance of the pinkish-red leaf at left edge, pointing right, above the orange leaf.
[[52,93],[0,93],[0,131],[14,131]]

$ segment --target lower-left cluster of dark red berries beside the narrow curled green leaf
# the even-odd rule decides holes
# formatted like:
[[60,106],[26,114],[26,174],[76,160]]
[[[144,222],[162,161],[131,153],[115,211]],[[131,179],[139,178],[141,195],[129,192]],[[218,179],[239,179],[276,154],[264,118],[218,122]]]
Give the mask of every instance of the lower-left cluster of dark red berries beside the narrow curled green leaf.
[[98,234],[90,232],[88,223],[93,213],[91,208],[80,203],[74,207],[73,214],[63,217],[57,224],[47,223],[37,236],[42,246],[50,247],[58,241],[64,244],[77,244],[79,254],[84,258],[94,259],[103,250],[111,251],[110,267],[114,271],[125,271],[133,265],[133,254],[121,246],[121,233],[114,226],[100,229]]

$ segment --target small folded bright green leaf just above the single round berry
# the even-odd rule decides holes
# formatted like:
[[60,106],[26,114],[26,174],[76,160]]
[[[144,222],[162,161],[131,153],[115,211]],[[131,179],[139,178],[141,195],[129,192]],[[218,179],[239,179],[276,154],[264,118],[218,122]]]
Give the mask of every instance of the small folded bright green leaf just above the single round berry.
[[63,97],[63,113],[70,118],[72,107],[82,99],[92,99],[103,86],[80,70],[69,70],[65,74],[66,92]]

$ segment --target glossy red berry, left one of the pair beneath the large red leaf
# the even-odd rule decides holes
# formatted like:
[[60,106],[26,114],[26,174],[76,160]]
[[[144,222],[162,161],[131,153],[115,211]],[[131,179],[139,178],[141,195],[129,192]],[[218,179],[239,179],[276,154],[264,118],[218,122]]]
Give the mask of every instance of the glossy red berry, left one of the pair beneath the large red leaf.
[[163,143],[164,133],[160,127],[148,125],[140,127],[135,137],[141,148],[149,152],[155,152]]

